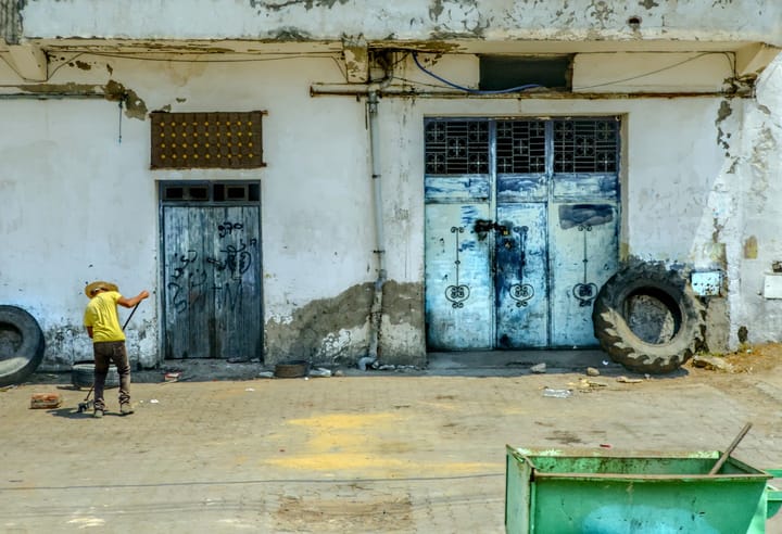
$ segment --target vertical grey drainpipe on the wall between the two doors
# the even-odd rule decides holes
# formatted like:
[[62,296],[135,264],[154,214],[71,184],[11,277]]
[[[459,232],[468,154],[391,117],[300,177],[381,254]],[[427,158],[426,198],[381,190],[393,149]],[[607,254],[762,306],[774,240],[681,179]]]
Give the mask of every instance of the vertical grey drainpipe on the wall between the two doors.
[[[384,84],[389,84],[387,77]],[[382,87],[382,85],[380,86]],[[369,354],[358,360],[358,368],[366,370],[367,365],[378,360],[378,341],[382,322],[382,290],[386,283],[386,236],[382,220],[382,183],[380,182],[380,136],[378,132],[378,86],[367,91],[367,115],[369,116],[369,160],[373,180],[373,208],[375,211],[375,254],[377,254],[378,277],[375,280],[375,294],[369,312]]]

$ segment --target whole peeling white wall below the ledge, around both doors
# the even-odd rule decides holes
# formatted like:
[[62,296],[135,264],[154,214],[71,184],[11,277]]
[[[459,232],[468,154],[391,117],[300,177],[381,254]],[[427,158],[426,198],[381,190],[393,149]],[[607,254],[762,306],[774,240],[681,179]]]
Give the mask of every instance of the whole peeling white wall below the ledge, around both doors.
[[[53,84],[135,91],[116,102],[0,100],[0,302],[38,318],[45,367],[89,357],[81,328],[85,282],[106,278],[129,294],[157,289],[156,180],[261,179],[265,320],[285,322],[308,303],[376,278],[371,179],[364,102],[312,98],[315,81],[340,81],[330,59],[255,63],[165,63],[80,55]],[[475,79],[471,61],[445,62],[454,79]],[[86,65],[86,66],[85,66]],[[621,65],[619,65],[620,67]],[[408,66],[409,68],[409,66]],[[686,99],[401,99],[379,104],[388,277],[422,284],[425,116],[622,115],[627,123],[622,243],[630,256],[696,268],[727,268],[729,327],[753,341],[778,340],[782,302],[758,296],[770,262],[782,259],[778,60],[758,102]],[[0,82],[16,84],[0,66]],[[142,110],[268,111],[258,170],[152,171]],[[130,116],[128,116],[130,115]],[[749,237],[757,257],[745,257]],[[160,297],[160,294],[155,295]],[[139,308],[129,348],[157,361],[155,300]],[[412,304],[414,305],[414,304]],[[420,302],[422,305],[422,301]],[[422,325],[383,323],[386,342],[424,349]],[[366,328],[335,331],[324,344],[366,345]],[[328,348],[328,347],[327,347]],[[392,358],[393,354],[388,354]]]

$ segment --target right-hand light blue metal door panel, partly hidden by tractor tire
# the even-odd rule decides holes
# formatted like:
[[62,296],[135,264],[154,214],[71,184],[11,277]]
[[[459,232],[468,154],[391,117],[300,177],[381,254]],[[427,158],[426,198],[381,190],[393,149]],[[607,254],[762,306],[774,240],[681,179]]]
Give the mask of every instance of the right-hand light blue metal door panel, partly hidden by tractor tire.
[[615,203],[554,204],[551,225],[552,346],[593,346],[592,307],[618,267]]

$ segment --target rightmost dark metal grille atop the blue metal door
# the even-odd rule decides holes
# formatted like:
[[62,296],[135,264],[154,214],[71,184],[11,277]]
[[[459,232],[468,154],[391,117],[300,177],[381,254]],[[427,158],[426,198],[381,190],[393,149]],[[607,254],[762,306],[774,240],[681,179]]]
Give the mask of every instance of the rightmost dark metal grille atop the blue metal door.
[[554,171],[616,173],[617,139],[616,120],[555,120]]

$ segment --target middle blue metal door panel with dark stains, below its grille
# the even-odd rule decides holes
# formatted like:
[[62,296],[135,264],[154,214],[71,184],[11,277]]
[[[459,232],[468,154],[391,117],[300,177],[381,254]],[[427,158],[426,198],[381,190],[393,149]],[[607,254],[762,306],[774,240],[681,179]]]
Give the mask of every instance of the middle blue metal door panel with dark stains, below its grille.
[[497,206],[495,257],[496,346],[547,346],[545,203]]

